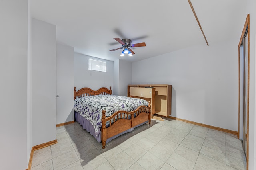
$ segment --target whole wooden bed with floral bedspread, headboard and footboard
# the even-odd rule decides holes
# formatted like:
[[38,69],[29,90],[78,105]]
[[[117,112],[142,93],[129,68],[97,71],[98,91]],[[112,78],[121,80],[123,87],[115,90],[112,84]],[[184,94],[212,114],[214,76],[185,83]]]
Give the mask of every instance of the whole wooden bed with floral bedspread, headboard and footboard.
[[[112,139],[144,123],[151,123],[150,102],[138,98],[129,98],[127,102],[126,98],[112,95],[111,87],[96,91],[90,88],[76,91],[74,87],[75,120],[102,142],[103,149]],[[121,103],[117,102],[119,100]]]

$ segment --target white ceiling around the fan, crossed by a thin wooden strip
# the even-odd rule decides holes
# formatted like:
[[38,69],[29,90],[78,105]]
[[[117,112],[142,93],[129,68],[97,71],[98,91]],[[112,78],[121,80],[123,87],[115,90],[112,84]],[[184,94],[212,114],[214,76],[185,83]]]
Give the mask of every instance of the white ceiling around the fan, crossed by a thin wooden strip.
[[[191,0],[211,45],[240,37],[245,21],[241,0]],[[33,18],[56,25],[57,42],[107,60],[138,61],[192,45],[206,45],[188,0],[31,0]],[[120,57],[113,38],[128,38],[135,54]]]

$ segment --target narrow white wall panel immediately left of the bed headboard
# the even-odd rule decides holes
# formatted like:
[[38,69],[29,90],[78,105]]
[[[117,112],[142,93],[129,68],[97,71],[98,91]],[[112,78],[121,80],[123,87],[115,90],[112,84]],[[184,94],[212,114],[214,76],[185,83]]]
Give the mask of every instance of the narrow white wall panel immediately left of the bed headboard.
[[74,120],[74,48],[57,43],[56,123]]

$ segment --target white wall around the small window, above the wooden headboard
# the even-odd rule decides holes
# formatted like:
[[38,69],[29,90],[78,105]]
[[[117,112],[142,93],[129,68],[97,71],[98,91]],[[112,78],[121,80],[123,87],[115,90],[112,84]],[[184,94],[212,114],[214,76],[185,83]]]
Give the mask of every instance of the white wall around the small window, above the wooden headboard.
[[88,70],[89,58],[98,59],[88,55],[74,53],[74,86],[76,86],[76,90],[79,90],[83,87],[89,87],[92,90],[98,90],[101,87],[106,87],[109,89],[110,86],[112,87],[112,90],[114,90],[114,62],[104,59],[98,59],[106,61],[107,72],[90,71]]

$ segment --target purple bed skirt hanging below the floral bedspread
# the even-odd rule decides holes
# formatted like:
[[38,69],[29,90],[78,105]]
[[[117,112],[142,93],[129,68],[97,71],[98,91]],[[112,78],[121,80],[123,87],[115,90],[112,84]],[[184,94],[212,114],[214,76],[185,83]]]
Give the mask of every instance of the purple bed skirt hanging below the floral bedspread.
[[[80,125],[82,125],[82,128],[85,129],[86,131],[88,131],[92,136],[94,136],[94,138],[98,141],[98,143],[101,142],[101,129],[98,129],[98,133],[96,134],[95,133],[95,129],[94,127],[92,126],[92,124],[90,123],[90,121],[88,121],[87,119],[85,119],[84,117],[82,117],[82,115],[80,115],[80,113],[77,113],[76,111],[74,111],[74,117],[75,117],[75,120],[80,123]],[[136,127],[140,126],[140,125],[143,125],[145,123],[148,123],[148,121],[145,121],[139,125],[137,125]],[[130,128],[122,133],[119,133],[111,138],[108,138],[106,140],[106,143],[108,143],[109,141],[111,141],[112,139],[115,139],[116,137],[120,136],[120,135],[123,135],[127,132],[131,132],[133,131],[134,128],[136,127],[133,127],[133,128]]]

